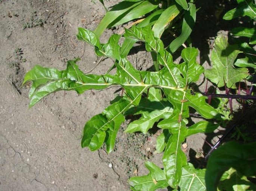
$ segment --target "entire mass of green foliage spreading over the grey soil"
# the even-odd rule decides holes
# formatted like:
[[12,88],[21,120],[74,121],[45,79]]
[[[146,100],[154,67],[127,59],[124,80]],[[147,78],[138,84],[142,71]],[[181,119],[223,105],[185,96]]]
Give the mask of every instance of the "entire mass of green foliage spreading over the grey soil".
[[[237,2],[237,8],[227,12],[224,19],[230,20],[239,16],[256,19],[256,8],[252,1]],[[101,3],[104,4],[103,1]],[[144,15],[144,18],[135,22],[137,25],[126,28],[123,35],[114,34],[105,44],[99,41],[106,28]],[[214,96],[229,98],[228,102],[232,108],[234,98],[228,95],[228,89],[235,89],[237,83],[243,79],[249,80],[249,70],[246,67],[255,69],[255,57],[251,53],[248,54],[254,50],[249,44],[230,45],[228,39],[220,35],[216,38],[212,52],[213,67],[204,70],[197,63],[198,50],[184,45],[185,42],[190,42],[189,35],[195,23],[195,15],[196,8],[192,1],[121,1],[106,13],[94,32],[78,28],[77,34],[79,40],[94,47],[97,56],[114,61],[111,69],[116,68],[115,74],[85,74],[77,66],[79,58],[68,61],[67,68],[62,71],[35,66],[25,75],[23,82],[32,82],[29,106],[34,106],[45,96],[59,90],[75,90],[81,94],[90,89],[101,90],[118,85],[123,89],[123,94],[118,95],[101,114],[86,122],[81,146],[95,151],[105,144],[107,153],[112,152],[120,125],[128,115],[140,117],[127,126],[126,133],[147,133],[155,124],[161,128],[163,133],[157,138],[156,149],[157,152],[164,152],[164,168],[161,169],[152,162],[145,162],[149,174],[130,178],[131,190],[154,191],[168,186],[181,191],[204,191],[206,188],[216,190],[220,179],[238,187],[234,182],[234,173],[246,184],[251,184],[247,176],[256,175],[255,171],[250,169],[252,165],[249,163],[255,160],[255,143],[242,145],[230,142],[221,146],[209,157],[206,169],[195,169],[192,163],[187,162],[181,149],[181,144],[188,136],[213,132],[230,117],[228,112],[222,111],[222,107],[214,108],[208,104],[207,96],[208,101]],[[161,36],[170,29],[180,35],[166,46]],[[253,31],[255,28],[235,28],[231,32],[237,36],[249,37],[250,44],[255,44],[254,34],[249,35]],[[123,43],[120,43],[121,37],[124,38]],[[128,60],[127,55],[136,42],[145,43],[146,51],[152,55],[155,71],[136,70]],[[175,63],[172,53],[181,45],[184,47],[181,51],[182,62]],[[240,53],[245,56],[238,57]],[[218,87],[225,87],[226,94],[223,96],[195,92],[192,85],[198,82],[202,74]],[[240,96],[238,99],[242,98],[248,97]],[[191,109],[204,120],[189,124]],[[230,167],[236,171],[227,171]],[[222,183],[220,182],[219,188],[226,189],[228,185]]]

